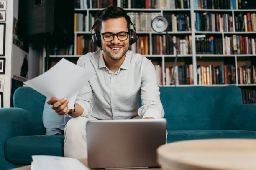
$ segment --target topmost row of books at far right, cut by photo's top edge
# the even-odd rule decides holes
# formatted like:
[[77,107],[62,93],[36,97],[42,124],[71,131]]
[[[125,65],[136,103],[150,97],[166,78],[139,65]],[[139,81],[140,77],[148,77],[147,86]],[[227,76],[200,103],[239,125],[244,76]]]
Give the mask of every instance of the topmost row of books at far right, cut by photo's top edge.
[[[251,2],[250,2],[251,1]],[[195,9],[247,9],[253,0],[194,0]],[[250,2],[250,3],[248,3]]]

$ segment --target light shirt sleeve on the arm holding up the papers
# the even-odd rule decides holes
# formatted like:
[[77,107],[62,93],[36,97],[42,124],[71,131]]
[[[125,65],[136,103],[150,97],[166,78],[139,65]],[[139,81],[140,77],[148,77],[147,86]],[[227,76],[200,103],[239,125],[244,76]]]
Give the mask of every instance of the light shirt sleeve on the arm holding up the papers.
[[[86,68],[86,65],[81,59],[81,57],[77,61],[77,65],[79,65],[80,67]],[[82,116],[87,117],[88,115],[92,114],[92,107],[93,107],[92,96],[93,96],[92,87],[88,81],[86,85],[84,85],[82,89],[79,90],[77,94],[77,98],[75,100],[75,102],[84,109],[83,114],[79,117],[82,117]]]

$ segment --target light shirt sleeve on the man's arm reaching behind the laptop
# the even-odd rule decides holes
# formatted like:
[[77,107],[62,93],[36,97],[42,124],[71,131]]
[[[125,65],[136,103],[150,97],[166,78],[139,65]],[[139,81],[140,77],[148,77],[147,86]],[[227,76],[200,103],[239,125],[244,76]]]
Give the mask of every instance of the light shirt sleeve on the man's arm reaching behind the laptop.
[[154,65],[147,60],[141,76],[141,104],[138,115],[142,118],[163,118],[164,109],[160,101],[160,92],[157,85],[157,76]]

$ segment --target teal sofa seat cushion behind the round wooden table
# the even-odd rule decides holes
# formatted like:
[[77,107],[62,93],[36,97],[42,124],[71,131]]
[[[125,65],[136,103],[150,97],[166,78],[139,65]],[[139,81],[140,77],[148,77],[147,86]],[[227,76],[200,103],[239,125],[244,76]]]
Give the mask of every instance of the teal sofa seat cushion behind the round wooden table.
[[256,138],[256,131],[245,130],[168,130],[167,143],[212,138]]

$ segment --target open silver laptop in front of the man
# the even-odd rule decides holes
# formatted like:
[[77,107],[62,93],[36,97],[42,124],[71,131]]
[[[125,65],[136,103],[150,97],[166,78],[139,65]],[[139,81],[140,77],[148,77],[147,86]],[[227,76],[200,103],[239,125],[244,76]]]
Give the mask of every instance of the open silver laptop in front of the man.
[[166,119],[88,121],[88,166],[91,169],[158,167],[156,149],[166,143],[166,124]]

